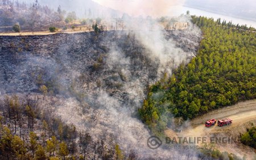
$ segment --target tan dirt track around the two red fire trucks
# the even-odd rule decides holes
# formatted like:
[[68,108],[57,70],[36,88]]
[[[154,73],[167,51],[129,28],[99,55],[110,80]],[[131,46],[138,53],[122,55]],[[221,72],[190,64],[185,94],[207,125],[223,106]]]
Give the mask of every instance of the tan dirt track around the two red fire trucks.
[[[231,118],[233,123],[225,127],[218,127],[217,124],[210,128],[204,126],[205,121],[208,119],[214,118],[218,120],[225,117]],[[256,124],[256,99],[211,111],[203,116],[196,117],[189,123],[190,125],[185,127],[181,133],[166,130],[166,135],[169,137],[240,137],[240,134],[246,132],[246,128]],[[242,145],[239,141],[234,144],[218,144],[217,146],[220,151],[228,151],[229,153],[240,155],[240,157],[245,156],[246,159],[256,158],[255,150]]]

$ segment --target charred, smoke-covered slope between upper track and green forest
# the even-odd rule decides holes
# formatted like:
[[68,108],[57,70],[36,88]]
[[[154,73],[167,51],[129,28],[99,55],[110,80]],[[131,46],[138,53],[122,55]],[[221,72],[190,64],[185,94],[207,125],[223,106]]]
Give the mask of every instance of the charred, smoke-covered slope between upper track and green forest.
[[53,115],[93,136],[106,129],[122,148],[141,156],[155,154],[147,148],[150,134],[137,110],[148,85],[195,56],[201,34],[168,31],[156,40],[159,32],[135,35],[1,36],[0,92],[37,96],[46,85],[48,96],[39,106],[55,108]]

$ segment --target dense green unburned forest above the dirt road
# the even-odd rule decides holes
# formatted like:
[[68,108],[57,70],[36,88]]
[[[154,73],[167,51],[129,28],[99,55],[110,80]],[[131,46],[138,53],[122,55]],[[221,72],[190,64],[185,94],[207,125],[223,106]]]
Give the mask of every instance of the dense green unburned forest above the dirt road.
[[192,16],[204,39],[195,58],[150,86],[139,109],[141,119],[158,133],[170,117],[192,119],[210,110],[256,97],[256,33]]

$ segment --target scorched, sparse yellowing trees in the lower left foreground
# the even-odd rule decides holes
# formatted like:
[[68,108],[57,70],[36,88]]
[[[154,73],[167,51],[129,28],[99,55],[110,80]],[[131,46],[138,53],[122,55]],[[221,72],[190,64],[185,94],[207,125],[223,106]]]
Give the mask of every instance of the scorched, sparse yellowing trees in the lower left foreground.
[[[42,100],[42,99],[41,99]],[[106,130],[91,136],[38,107],[38,98],[0,99],[0,159],[135,159]]]

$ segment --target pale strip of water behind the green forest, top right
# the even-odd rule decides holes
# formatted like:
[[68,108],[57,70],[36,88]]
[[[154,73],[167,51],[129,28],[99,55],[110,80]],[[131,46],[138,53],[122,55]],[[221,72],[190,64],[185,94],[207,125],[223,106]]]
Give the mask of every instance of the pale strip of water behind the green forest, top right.
[[247,24],[247,27],[256,28],[256,22],[253,20],[234,18],[232,16],[216,14],[213,12],[203,11],[203,10],[199,10],[199,9],[193,9],[191,7],[185,7],[185,6],[174,6],[174,7],[172,7],[171,10],[173,10],[172,14],[174,16],[179,16],[180,14],[185,14],[186,11],[190,11],[191,15],[207,16],[208,18],[213,18],[214,20],[221,18],[221,22],[222,22],[222,20],[225,19],[226,22],[232,21],[233,24],[237,24],[237,23],[239,23],[240,25]]

